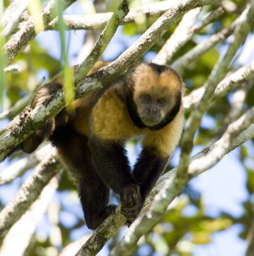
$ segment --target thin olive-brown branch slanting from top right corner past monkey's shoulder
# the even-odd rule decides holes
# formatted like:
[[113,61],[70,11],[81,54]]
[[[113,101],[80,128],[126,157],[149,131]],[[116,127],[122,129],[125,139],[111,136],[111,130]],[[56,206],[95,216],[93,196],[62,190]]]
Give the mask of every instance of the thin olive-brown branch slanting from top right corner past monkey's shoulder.
[[241,23],[235,28],[234,40],[232,40],[228,46],[226,54],[220,57],[215,64],[214,69],[211,71],[207,81],[205,82],[205,93],[196,109],[191,112],[190,117],[186,122],[186,129],[182,135],[181,156],[177,171],[178,177],[184,177],[186,175],[190,161],[190,153],[193,147],[194,134],[200,126],[202,116],[209,109],[218,82],[221,81],[227,73],[230,62],[232,61],[236,51],[238,51],[239,46],[247,37],[253,17],[254,1],[252,0],[247,4],[247,7],[240,16]]

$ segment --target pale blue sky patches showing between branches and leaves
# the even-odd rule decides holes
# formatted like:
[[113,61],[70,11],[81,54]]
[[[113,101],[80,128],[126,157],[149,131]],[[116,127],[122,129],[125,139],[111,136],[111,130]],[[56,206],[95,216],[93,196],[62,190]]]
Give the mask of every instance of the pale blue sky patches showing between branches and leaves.
[[[82,14],[83,9],[78,3],[75,3],[67,10],[67,13]],[[115,57],[117,57],[121,52],[124,51],[126,47],[130,46],[139,37],[126,36],[123,35],[121,31],[122,28],[117,30],[116,35],[103,54],[105,60],[115,59]],[[68,33],[71,35],[69,61],[70,64],[73,65],[77,64],[77,54],[82,45],[84,31],[71,31]],[[47,49],[52,56],[60,59],[60,37],[56,31],[43,32],[36,37],[36,40],[42,47]],[[201,40],[200,37],[198,40]],[[146,54],[147,61],[153,59],[153,57],[153,52],[148,52]],[[249,59],[246,60],[246,62],[249,62]],[[40,70],[38,72],[38,79],[45,75],[47,75],[47,71]],[[0,121],[0,129],[5,127],[6,124],[6,121]],[[213,128],[214,120],[206,115],[202,119],[201,125],[207,128]],[[246,145],[253,150],[250,143],[247,142]],[[199,150],[200,147],[194,148],[194,152],[196,153]],[[133,148],[130,148],[129,155],[133,161],[134,155],[136,155],[136,152],[133,152]],[[215,167],[211,168],[197,178],[194,178],[190,182],[191,186],[201,193],[205,205],[205,211],[210,216],[218,216],[221,211],[230,213],[234,217],[240,217],[243,214],[244,209],[242,208],[242,203],[248,198],[248,192],[245,187],[247,177],[245,170],[238,160],[238,155],[239,149],[236,148],[236,150],[226,155],[225,158],[223,158],[222,161],[220,161]],[[171,160],[172,164],[176,165],[178,160],[179,150],[175,152]],[[9,162],[7,160],[0,163],[0,171],[3,170],[8,164]],[[250,166],[253,168],[253,162],[250,161],[248,164],[250,164]],[[28,172],[28,174],[26,174],[24,177],[27,177],[29,174],[30,172]],[[20,186],[21,181],[24,180],[24,177],[16,179],[10,185],[0,187],[0,200],[2,202],[7,203],[12,200]],[[82,211],[80,204],[77,201],[73,203],[69,197],[69,193],[62,192],[57,193],[54,200],[61,200],[64,205],[64,211],[62,211],[60,214],[60,220],[65,223],[65,225],[72,226],[74,222],[77,221],[76,217],[82,218]],[[192,211],[193,209],[191,208],[185,209],[186,214],[191,214]],[[43,220],[41,220],[37,231],[41,234],[47,235],[49,229],[50,223],[48,222],[47,218],[44,217]],[[193,255],[243,256],[245,253],[246,244],[238,236],[241,230],[241,225],[234,225],[230,229],[213,234],[212,242],[209,245],[195,246]],[[75,240],[87,232],[88,230],[84,226],[78,230],[73,230],[72,239]],[[145,254],[146,253],[144,252],[144,255]],[[107,255],[107,249],[101,251],[99,255]]]

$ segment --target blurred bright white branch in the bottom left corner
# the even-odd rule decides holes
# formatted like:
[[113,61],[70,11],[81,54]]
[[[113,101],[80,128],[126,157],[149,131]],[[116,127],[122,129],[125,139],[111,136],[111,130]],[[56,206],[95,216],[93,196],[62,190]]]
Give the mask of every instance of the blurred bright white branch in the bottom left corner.
[[[58,177],[50,180],[49,184],[43,189],[38,199],[31,205],[30,209],[23,214],[21,219],[12,226],[9,233],[5,236],[1,249],[1,256],[23,256],[38,222],[46,212],[48,204],[58,186]],[[15,245],[15,246],[13,246]]]

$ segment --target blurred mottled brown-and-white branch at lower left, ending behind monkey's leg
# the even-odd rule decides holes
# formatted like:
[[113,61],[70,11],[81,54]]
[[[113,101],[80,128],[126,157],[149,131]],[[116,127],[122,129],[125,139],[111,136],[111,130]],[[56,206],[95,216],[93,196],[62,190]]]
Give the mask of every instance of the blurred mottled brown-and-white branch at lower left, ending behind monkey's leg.
[[61,163],[50,157],[41,162],[32,176],[24,182],[15,199],[7,204],[0,213],[0,242],[61,168]]

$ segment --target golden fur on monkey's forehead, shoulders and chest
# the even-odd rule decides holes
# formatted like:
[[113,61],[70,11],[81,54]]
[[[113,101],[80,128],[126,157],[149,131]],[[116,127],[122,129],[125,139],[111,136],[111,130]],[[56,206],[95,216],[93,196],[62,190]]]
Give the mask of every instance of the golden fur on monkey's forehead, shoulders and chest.
[[[139,76],[134,77],[134,101],[142,93],[157,94],[157,97],[166,97],[169,102],[168,110],[172,109],[179,90],[183,95],[183,86],[179,78],[173,71],[167,70],[158,76],[154,70],[150,67],[149,69],[147,70],[145,64],[140,65]],[[182,105],[176,117],[162,129],[155,131],[148,128],[141,129],[131,120],[121,90],[121,86],[117,83],[107,89],[92,108],[90,118],[89,105],[95,93],[77,100],[77,118],[73,122],[75,129],[83,135],[90,137],[92,134],[103,141],[126,142],[140,136],[143,137],[144,146],[156,147],[158,155],[163,158],[170,156],[179,142],[183,128]],[[89,123],[89,120],[92,122]]]

